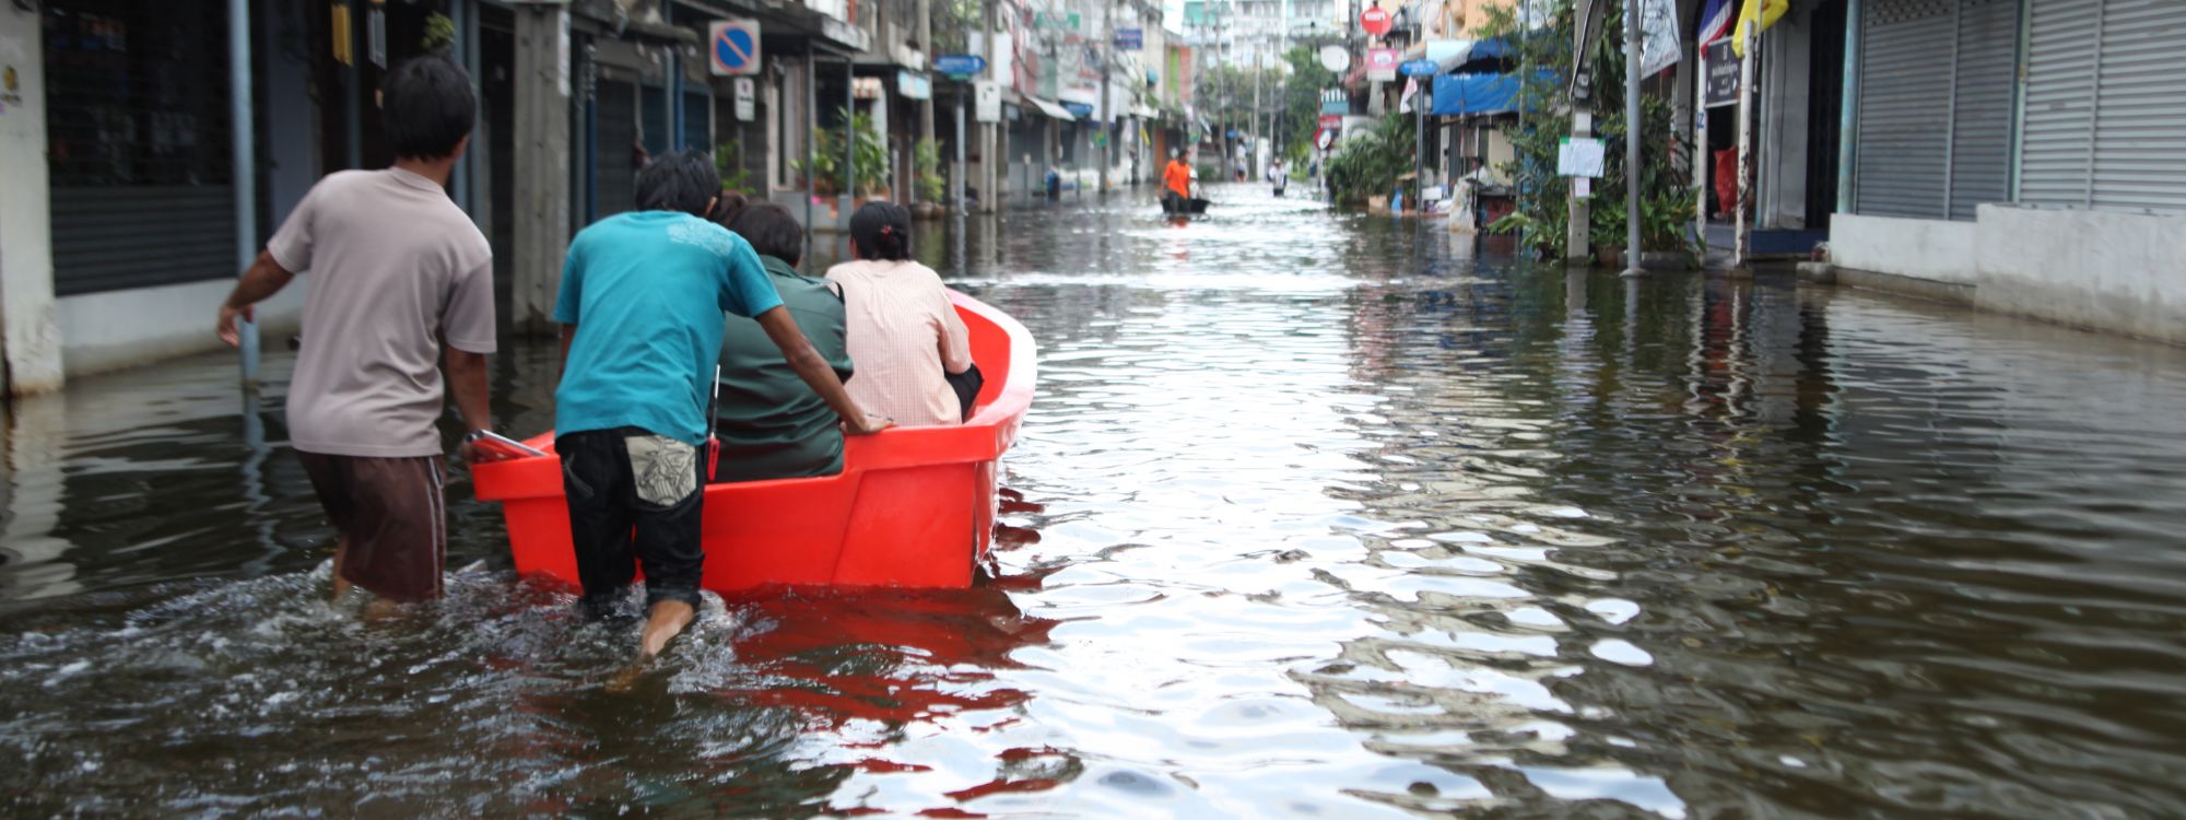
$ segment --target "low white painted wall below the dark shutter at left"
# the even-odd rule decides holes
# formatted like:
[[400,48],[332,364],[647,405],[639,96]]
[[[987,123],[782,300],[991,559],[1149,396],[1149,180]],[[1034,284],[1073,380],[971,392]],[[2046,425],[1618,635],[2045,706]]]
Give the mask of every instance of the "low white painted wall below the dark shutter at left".
[[[219,350],[223,345],[212,335],[212,321],[234,286],[234,280],[205,280],[63,297],[61,367],[77,378]],[[286,350],[289,335],[302,324],[308,286],[310,276],[297,276],[282,293],[258,304],[265,350]]]

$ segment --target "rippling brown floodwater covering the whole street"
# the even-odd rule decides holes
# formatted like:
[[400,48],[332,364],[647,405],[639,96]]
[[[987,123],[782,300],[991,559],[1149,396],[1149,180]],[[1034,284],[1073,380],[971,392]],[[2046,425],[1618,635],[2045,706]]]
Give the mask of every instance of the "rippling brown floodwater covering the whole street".
[[450,597],[328,608],[284,359],[15,402],[0,813],[2186,813],[2186,350],[1150,197],[925,243],[1041,343],[992,579],[627,691],[461,470]]

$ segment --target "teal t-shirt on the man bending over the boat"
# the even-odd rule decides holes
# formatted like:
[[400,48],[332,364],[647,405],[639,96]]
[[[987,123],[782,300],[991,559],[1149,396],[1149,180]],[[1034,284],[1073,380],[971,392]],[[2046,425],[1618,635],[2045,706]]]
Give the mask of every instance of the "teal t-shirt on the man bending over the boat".
[[568,243],[553,308],[577,326],[553,394],[555,433],[640,426],[706,444],[721,313],[780,304],[752,245],[721,225],[667,210],[592,223]]

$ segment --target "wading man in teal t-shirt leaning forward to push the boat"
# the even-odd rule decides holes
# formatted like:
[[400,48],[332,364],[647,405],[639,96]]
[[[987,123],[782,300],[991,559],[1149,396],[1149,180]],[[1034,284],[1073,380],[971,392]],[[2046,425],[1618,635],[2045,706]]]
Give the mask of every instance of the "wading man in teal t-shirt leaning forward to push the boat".
[[654,157],[638,173],[638,210],[571,241],[553,311],[562,324],[555,450],[584,608],[608,614],[643,564],[640,660],[697,614],[702,450],[724,313],[759,319],[776,354],[850,433],[888,426],[857,409],[798,332],[752,245],[704,219],[719,195],[706,157]]

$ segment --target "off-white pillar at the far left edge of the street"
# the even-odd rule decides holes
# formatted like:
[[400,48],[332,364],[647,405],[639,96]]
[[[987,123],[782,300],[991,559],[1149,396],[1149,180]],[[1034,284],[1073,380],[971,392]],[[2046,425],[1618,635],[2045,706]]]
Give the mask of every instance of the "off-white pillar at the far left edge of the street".
[[46,59],[37,11],[0,4],[0,179],[7,179],[0,184],[0,345],[9,394],[28,396],[61,387],[61,330],[52,319]]

